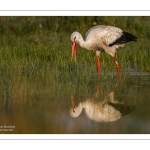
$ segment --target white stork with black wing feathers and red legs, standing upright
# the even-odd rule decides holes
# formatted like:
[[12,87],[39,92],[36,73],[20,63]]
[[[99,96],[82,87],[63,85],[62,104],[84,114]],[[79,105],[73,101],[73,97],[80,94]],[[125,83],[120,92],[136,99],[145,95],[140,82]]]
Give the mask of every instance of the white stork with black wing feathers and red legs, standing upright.
[[120,66],[116,60],[116,49],[123,47],[125,43],[131,41],[137,41],[137,37],[121,30],[115,26],[97,25],[89,29],[85,34],[85,41],[82,35],[75,31],[71,34],[70,39],[72,41],[72,55],[71,60],[76,61],[76,52],[79,45],[86,50],[93,50],[96,52],[97,58],[97,72],[100,73],[100,54],[105,51],[111,55],[120,76]]

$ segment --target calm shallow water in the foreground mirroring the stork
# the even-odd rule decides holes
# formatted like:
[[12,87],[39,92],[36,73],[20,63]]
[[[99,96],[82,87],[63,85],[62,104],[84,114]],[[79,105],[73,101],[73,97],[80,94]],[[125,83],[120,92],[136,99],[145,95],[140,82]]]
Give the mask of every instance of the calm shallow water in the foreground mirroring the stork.
[[2,86],[3,134],[150,133],[149,73],[124,71],[119,81],[110,74],[88,80],[58,74],[44,83],[33,78]]

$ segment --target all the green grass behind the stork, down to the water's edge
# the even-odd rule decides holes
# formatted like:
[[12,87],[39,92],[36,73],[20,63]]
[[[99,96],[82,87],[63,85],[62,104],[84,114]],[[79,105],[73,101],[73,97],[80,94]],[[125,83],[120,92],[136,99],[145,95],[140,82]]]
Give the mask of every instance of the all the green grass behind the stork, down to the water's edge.
[[[66,80],[73,76],[81,80],[97,76],[94,52],[79,47],[77,62],[70,60],[70,34],[74,30],[85,34],[93,22],[116,25],[136,35],[138,42],[127,43],[118,50],[117,60],[122,70],[150,71],[149,17],[1,17],[0,20],[1,82],[8,78],[9,82],[18,80],[19,76],[31,80],[45,80],[45,75]],[[101,54],[101,66],[101,75],[116,72],[113,59],[106,53]]]

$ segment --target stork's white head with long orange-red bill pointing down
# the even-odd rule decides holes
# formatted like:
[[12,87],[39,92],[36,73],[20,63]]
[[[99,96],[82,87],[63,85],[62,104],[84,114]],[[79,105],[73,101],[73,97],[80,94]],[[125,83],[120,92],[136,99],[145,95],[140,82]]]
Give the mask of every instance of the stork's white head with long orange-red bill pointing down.
[[72,41],[72,55],[71,55],[71,60],[74,59],[76,61],[76,53],[78,49],[78,43],[79,39],[81,37],[81,34],[79,32],[73,32],[70,36],[70,39]]

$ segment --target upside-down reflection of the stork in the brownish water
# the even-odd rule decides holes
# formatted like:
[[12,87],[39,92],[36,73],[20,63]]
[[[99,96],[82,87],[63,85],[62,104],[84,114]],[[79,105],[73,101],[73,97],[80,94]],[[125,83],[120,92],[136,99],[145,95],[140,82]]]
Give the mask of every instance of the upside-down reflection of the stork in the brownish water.
[[97,86],[96,93],[93,98],[87,98],[76,105],[74,95],[71,95],[72,108],[70,109],[70,115],[74,118],[79,117],[84,110],[85,115],[96,122],[113,122],[117,121],[126,114],[135,110],[135,105],[127,105],[124,101],[115,99],[115,89],[106,95],[103,99],[100,99],[99,86]]

